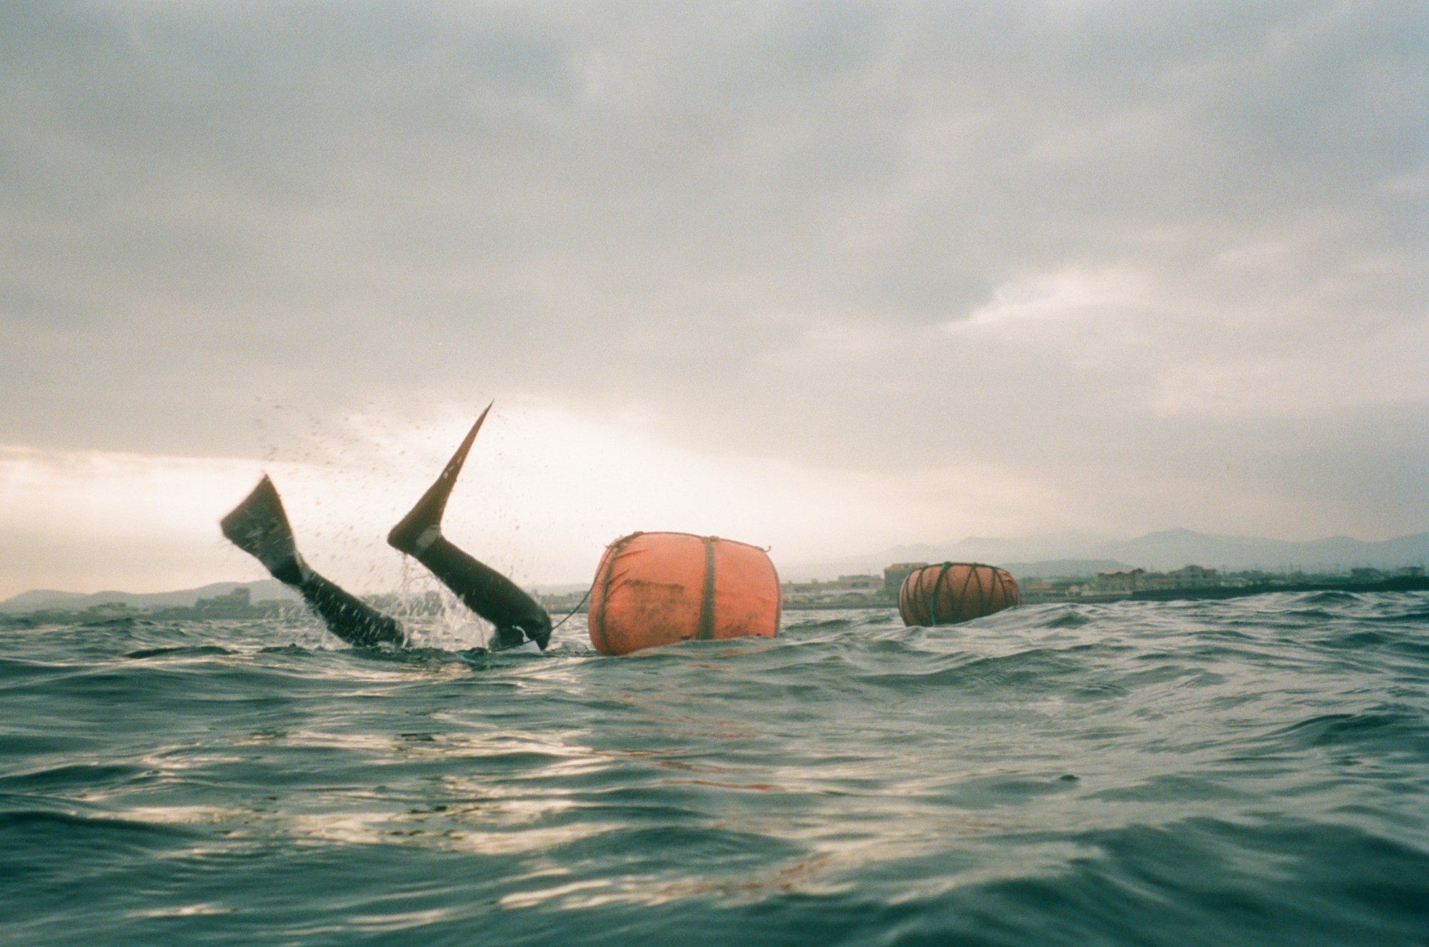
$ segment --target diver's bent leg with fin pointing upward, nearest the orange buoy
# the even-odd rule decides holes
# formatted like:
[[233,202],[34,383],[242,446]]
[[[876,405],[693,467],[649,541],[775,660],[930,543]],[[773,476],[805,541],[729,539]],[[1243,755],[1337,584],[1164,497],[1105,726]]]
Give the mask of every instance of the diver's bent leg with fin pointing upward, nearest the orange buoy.
[[466,463],[476,433],[492,406],[476,419],[442,475],[427,488],[417,505],[402,518],[387,542],[432,569],[473,612],[496,625],[500,647],[520,644],[524,634],[543,649],[550,642],[550,615],[509,578],[456,548],[442,535],[442,514]]

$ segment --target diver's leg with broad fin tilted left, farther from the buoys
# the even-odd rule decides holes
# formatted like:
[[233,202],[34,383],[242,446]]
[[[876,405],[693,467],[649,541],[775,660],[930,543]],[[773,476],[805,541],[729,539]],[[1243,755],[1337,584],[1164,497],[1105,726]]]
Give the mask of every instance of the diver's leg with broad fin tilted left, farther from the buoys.
[[400,645],[402,627],[376,608],[327,581],[303,561],[293,541],[293,528],[283,511],[273,481],[264,476],[242,504],[219,521],[223,535],[254,556],[273,578],[296,588],[327,629],[350,645],[379,642]]

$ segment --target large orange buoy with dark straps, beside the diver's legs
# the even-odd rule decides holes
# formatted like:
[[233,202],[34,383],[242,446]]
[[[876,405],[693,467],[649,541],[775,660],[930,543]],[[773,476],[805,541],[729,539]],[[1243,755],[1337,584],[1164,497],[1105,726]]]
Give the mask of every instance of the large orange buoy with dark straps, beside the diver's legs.
[[600,654],[773,638],[779,574],[759,546],[687,532],[633,532],[600,556],[586,621]]

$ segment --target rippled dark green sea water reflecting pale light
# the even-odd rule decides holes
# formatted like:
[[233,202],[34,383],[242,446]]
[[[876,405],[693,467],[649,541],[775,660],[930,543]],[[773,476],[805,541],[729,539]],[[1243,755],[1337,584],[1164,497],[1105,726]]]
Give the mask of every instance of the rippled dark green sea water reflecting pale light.
[[0,944],[1429,943],[1425,594],[450,638],[0,625]]

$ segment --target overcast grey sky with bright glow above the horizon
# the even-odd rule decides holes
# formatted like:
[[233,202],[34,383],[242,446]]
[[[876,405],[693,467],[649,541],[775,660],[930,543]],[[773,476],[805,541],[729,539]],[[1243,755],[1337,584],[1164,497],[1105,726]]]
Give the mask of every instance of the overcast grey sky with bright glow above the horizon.
[[1429,6],[0,4],[0,598],[1429,531]]

